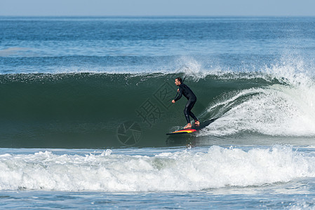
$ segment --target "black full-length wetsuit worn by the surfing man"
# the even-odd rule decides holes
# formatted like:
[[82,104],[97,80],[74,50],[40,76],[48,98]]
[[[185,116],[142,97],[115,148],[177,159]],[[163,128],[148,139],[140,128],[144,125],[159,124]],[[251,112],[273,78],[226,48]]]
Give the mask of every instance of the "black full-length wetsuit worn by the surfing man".
[[187,102],[187,104],[185,106],[185,109],[184,109],[184,114],[185,114],[185,118],[187,120],[187,123],[190,123],[189,116],[194,118],[195,122],[198,121],[196,116],[194,116],[194,113],[192,113],[192,111],[191,111],[192,107],[194,107],[194,104],[197,101],[196,95],[185,84],[180,84],[178,86],[178,88],[180,89],[180,92],[179,92],[179,94],[177,95],[177,97],[174,100],[175,100],[175,102],[177,102],[182,97],[182,95],[184,95],[187,98],[188,102]]

